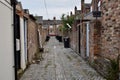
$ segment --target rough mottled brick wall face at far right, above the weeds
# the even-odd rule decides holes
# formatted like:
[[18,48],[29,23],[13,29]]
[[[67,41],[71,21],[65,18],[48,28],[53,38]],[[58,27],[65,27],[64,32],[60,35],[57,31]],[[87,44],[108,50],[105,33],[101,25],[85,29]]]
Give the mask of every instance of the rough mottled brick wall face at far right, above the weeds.
[[115,58],[120,54],[120,0],[103,0],[102,54]]

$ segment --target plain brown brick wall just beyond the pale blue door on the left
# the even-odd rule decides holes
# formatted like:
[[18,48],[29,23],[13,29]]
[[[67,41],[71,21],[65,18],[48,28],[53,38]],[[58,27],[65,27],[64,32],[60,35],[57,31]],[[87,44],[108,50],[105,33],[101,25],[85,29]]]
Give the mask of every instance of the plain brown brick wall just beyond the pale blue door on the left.
[[28,61],[32,62],[34,54],[38,51],[38,33],[35,21],[28,19]]

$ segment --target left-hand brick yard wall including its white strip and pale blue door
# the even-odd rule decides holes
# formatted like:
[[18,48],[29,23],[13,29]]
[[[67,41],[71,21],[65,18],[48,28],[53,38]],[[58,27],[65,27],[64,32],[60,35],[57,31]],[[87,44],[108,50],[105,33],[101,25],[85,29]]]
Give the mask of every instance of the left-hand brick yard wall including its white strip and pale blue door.
[[23,9],[21,2],[16,6],[18,25],[18,68],[25,69],[27,64],[32,63],[35,53],[39,50],[38,24],[28,9]]

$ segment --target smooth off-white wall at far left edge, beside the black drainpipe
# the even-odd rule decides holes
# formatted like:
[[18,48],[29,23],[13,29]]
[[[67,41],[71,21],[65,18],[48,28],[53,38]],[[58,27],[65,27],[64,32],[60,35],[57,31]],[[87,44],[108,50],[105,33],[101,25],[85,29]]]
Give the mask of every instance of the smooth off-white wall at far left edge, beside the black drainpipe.
[[0,80],[15,80],[13,11],[5,0],[0,0],[0,10]]

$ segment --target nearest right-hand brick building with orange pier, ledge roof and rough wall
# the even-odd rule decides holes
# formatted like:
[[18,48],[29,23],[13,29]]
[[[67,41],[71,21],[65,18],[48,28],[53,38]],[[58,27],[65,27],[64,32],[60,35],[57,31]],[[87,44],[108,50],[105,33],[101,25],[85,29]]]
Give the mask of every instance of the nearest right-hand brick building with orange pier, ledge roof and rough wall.
[[[116,59],[120,54],[118,9],[118,0],[92,0],[91,10],[84,17],[89,20],[89,61],[103,76],[107,74],[108,58]],[[101,17],[93,17],[93,11],[101,11]]]

